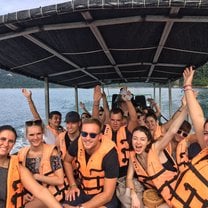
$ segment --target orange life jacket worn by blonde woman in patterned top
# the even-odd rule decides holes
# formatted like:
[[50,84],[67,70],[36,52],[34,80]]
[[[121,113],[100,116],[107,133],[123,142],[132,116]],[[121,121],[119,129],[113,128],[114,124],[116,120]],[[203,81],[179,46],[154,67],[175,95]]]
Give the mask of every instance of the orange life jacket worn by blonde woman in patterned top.
[[[50,157],[52,155],[54,148],[56,148],[55,145],[43,144],[43,155],[41,157],[41,162],[39,167],[39,173],[41,175],[45,175],[45,176],[54,175],[50,163]],[[30,150],[29,146],[23,147],[20,149],[18,153],[19,161],[22,162],[23,166],[25,166],[26,157],[29,150]],[[65,194],[69,187],[67,180],[64,181],[63,185],[59,185],[59,186],[49,185],[45,183],[42,183],[42,185],[47,187],[58,201],[65,199]]]

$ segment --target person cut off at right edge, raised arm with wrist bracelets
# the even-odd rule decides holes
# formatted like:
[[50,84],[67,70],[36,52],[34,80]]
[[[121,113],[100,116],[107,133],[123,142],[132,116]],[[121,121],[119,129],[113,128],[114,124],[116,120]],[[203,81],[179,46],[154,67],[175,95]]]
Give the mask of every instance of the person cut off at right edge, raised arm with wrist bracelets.
[[187,168],[180,175],[175,189],[176,194],[171,200],[173,207],[177,208],[208,207],[208,120],[204,118],[203,110],[192,87],[194,72],[192,66],[185,68],[183,89],[196,138],[202,151],[185,163]]

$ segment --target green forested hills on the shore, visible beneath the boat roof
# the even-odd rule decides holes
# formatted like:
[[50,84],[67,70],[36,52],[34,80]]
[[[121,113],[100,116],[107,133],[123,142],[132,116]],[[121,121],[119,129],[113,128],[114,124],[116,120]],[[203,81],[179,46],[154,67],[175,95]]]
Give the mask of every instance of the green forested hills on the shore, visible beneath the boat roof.
[[[182,83],[182,80],[181,80]],[[195,86],[208,86],[208,64],[197,70],[194,82]],[[10,73],[0,69],[0,88],[40,88],[44,87],[44,82],[22,75]],[[50,87],[60,87],[59,85],[50,85]],[[63,87],[63,86],[62,86]]]

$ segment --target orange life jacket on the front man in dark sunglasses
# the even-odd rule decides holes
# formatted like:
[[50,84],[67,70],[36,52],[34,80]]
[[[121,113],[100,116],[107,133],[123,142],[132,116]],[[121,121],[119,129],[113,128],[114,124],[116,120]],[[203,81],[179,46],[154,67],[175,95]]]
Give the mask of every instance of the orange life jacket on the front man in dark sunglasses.
[[105,172],[102,169],[102,162],[105,155],[114,147],[114,142],[102,139],[99,149],[86,162],[85,149],[81,138],[79,138],[77,153],[78,173],[81,188],[86,194],[98,194],[103,191]]

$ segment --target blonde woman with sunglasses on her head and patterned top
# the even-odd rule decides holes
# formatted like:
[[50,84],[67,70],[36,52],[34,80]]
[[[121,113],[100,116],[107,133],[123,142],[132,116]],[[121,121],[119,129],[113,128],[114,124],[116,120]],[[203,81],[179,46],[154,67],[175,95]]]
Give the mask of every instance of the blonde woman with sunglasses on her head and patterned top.
[[[41,120],[26,121],[25,133],[30,146],[18,153],[19,161],[26,166],[33,177],[53,194],[58,201],[63,200],[66,187],[61,159],[54,145],[43,142]],[[26,194],[25,208],[45,208],[46,206],[31,193]]]

